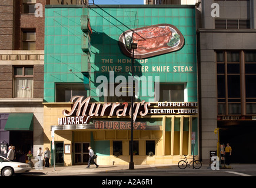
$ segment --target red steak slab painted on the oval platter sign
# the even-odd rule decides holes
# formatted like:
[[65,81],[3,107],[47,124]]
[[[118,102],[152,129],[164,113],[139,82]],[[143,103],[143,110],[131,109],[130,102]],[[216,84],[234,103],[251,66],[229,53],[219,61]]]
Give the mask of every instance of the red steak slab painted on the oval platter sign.
[[132,33],[132,39],[138,43],[138,49],[159,48],[168,43],[172,36],[169,27],[152,27],[137,33]]

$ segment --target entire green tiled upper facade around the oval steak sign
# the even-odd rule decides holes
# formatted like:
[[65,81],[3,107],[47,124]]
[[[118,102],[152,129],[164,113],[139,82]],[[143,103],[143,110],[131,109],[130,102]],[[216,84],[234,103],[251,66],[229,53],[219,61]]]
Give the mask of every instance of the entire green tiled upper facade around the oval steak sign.
[[[160,82],[187,83],[188,102],[197,102],[197,54],[195,8],[192,6],[90,6],[88,8],[92,28],[91,69],[88,96],[104,102],[96,93],[99,75],[109,78],[108,70],[121,66],[115,76],[131,75],[127,67],[131,58],[125,56],[118,46],[121,33],[135,28],[156,24],[176,26],[185,39],[185,45],[178,51],[145,59],[135,59],[134,66],[148,67],[148,72],[135,69],[134,75],[159,76]],[[45,102],[55,102],[55,83],[85,83],[88,79],[81,73],[82,6],[46,6],[45,9]],[[112,59],[105,63],[102,59]],[[120,63],[124,61],[126,63]],[[127,62],[128,61],[128,62]],[[153,66],[169,66],[168,72],[153,71]],[[184,68],[182,69],[182,66]],[[190,67],[185,71],[185,67]],[[72,72],[69,71],[72,69]],[[178,71],[180,70],[180,71]],[[184,70],[184,72],[182,72]],[[190,71],[192,70],[192,71]],[[149,84],[148,84],[149,85]],[[143,87],[143,86],[141,86]],[[152,83],[152,88],[154,84]],[[149,100],[141,96],[138,100]],[[151,99],[154,99],[151,98]],[[151,100],[152,101],[152,100]]]

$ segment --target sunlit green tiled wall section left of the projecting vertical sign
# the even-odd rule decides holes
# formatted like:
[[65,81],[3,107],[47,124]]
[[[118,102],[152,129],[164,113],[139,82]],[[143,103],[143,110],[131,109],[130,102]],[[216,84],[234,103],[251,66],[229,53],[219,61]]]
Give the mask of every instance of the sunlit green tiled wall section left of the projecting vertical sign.
[[[46,102],[54,102],[55,83],[81,82],[82,9],[45,9],[45,90]],[[77,15],[77,16],[76,16]],[[69,71],[72,69],[72,72]]]

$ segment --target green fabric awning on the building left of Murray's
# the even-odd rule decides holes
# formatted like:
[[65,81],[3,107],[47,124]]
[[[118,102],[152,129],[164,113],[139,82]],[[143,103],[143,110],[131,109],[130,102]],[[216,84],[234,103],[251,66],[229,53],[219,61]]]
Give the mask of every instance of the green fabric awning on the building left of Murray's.
[[33,130],[33,113],[9,113],[5,130]]

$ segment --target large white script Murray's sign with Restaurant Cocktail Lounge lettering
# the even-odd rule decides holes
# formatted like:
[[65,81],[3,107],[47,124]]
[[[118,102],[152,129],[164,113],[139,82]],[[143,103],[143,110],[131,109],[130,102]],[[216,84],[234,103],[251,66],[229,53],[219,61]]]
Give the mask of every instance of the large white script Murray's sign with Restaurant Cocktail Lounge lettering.
[[[131,105],[124,103],[90,103],[91,96],[84,99],[84,96],[73,96],[70,102],[73,103],[70,111],[62,110],[65,117],[58,118],[58,125],[79,125],[89,124],[91,117],[129,117],[131,116]],[[152,115],[177,115],[177,114],[197,114],[197,102],[158,102],[157,106],[151,103],[134,103],[134,122],[137,116]]]

